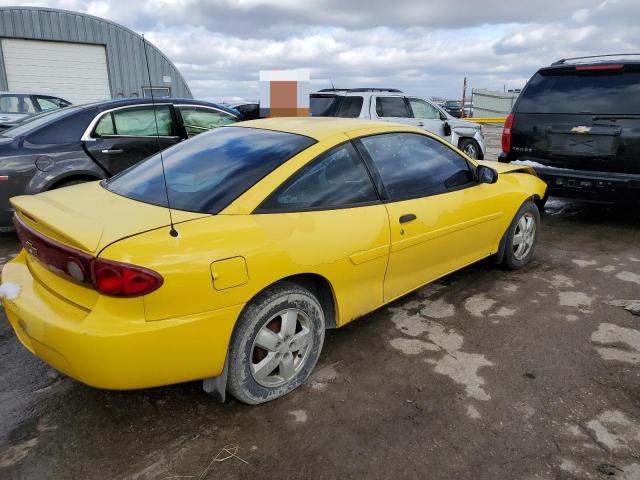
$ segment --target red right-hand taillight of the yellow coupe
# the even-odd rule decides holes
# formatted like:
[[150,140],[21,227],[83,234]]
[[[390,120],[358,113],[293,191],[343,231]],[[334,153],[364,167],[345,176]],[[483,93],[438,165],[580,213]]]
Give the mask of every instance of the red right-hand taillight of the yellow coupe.
[[162,277],[148,268],[96,258],[91,262],[91,280],[100,293],[112,297],[137,297],[162,285]]

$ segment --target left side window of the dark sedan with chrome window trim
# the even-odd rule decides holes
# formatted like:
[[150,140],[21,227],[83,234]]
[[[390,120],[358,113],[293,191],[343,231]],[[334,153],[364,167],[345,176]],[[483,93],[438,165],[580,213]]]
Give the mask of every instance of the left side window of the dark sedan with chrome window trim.
[[168,105],[157,105],[155,109],[153,107],[127,108],[116,110],[112,115],[116,127],[115,135],[153,137],[172,134],[171,110]]

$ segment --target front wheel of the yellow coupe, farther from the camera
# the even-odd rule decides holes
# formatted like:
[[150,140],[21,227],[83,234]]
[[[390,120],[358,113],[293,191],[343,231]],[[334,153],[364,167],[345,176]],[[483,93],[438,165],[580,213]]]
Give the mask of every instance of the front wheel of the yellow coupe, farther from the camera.
[[524,267],[533,258],[540,234],[540,211],[527,200],[513,217],[504,250],[503,263],[511,270]]

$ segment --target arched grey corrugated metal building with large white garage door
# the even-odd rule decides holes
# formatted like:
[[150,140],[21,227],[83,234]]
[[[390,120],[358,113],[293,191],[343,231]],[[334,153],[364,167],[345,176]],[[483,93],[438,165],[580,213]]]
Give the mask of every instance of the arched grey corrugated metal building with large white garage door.
[[[77,12],[0,8],[0,90],[51,93],[72,103],[120,97],[192,98],[171,61],[126,27]],[[151,88],[150,88],[151,87]]]

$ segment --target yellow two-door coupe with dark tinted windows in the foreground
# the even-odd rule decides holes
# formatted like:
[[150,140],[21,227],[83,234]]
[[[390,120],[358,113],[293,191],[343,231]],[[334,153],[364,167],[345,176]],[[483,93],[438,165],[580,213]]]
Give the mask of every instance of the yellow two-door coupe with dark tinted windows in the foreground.
[[491,255],[525,265],[546,188],[418,128],[333,118],[224,127],[165,150],[164,171],[156,155],[12,199],[4,308],[88,385],[204,379],[250,404],[303,383],[327,328]]

